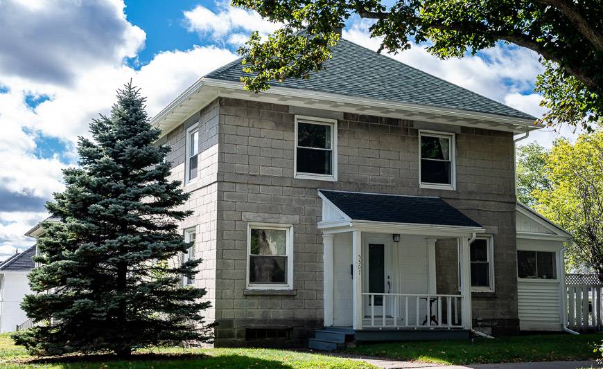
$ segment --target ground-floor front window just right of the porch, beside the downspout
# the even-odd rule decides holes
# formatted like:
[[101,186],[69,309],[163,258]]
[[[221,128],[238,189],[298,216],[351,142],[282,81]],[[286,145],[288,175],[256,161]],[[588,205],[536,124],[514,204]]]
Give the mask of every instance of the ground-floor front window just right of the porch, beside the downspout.
[[492,237],[477,237],[469,245],[471,291],[494,291]]

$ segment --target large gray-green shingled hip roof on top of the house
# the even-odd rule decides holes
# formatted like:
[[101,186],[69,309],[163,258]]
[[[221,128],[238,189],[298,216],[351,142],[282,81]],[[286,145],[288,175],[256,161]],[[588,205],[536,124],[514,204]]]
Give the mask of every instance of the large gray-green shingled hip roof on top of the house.
[[[236,60],[205,77],[238,82],[243,75],[246,73],[243,72],[241,60]],[[271,85],[536,119],[345,39],[333,47],[333,57],[324,63],[324,69],[311,73],[309,80],[290,78],[284,82],[272,82]]]

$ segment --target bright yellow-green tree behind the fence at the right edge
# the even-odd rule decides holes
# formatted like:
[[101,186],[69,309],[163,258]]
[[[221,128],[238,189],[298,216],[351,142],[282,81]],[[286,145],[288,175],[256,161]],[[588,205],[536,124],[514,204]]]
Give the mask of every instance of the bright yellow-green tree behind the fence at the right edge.
[[573,234],[568,266],[594,271],[603,282],[603,131],[574,144],[557,140],[549,152],[538,145],[522,150],[518,193],[530,190],[527,202]]

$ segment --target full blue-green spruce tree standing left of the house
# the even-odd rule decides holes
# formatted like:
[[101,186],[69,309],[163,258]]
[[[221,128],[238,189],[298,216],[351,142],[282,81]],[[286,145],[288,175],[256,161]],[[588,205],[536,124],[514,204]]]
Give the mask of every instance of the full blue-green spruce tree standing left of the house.
[[64,170],[66,189],[46,204],[61,222],[45,222],[40,267],[21,307],[35,322],[14,339],[33,354],[116,352],[207,341],[204,289],[183,287],[201,260],[174,262],[190,244],[177,221],[189,197],[168,179],[170,148],[155,145],[145,99],[131,83],[110,116],[78,143],[80,168]]

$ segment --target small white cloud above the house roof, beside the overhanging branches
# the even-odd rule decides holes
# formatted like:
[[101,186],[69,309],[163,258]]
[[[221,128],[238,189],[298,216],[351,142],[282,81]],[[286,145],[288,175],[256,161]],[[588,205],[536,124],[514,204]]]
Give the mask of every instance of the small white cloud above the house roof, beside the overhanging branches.
[[184,12],[189,32],[197,32],[200,36],[209,35],[215,41],[240,45],[249,39],[249,34],[254,30],[265,36],[281,26],[263,19],[257,12],[234,8],[227,2],[216,2],[216,7],[216,12],[202,5]]

